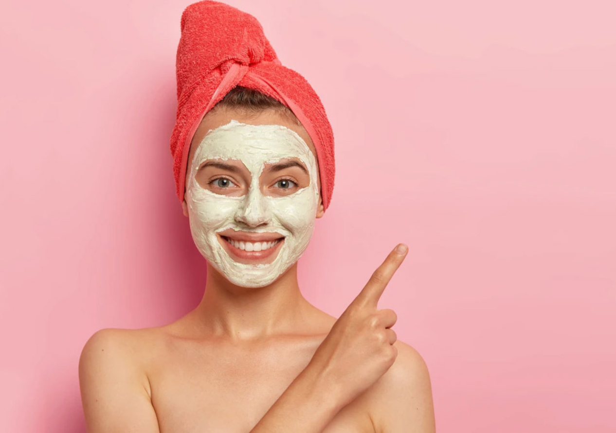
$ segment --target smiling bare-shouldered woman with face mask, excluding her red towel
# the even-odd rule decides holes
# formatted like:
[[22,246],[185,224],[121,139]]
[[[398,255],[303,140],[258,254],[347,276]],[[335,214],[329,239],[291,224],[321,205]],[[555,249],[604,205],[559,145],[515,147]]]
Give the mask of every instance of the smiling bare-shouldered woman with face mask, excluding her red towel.
[[397,340],[395,312],[377,309],[407,247],[338,319],[312,306],[297,263],[325,212],[323,141],[292,102],[237,84],[219,96],[181,151],[203,299],[172,324],[87,341],[87,431],[434,432],[426,364]]

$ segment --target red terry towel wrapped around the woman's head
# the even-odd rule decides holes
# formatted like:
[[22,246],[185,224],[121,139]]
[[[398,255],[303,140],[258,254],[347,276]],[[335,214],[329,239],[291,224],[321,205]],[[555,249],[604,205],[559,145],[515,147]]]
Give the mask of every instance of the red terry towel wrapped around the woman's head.
[[184,200],[188,150],[203,116],[236,85],[282,102],[302,123],[317,151],[321,195],[327,209],[334,188],[334,135],[312,86],[280,63],[253,15],[217,1],[182,13],[177,47],[177,118],[171,134],[177,196]]

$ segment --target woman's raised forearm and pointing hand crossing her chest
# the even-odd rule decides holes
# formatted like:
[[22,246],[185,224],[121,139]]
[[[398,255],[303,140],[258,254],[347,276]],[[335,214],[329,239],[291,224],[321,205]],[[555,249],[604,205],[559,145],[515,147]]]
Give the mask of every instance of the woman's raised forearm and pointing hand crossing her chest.
[[306,369],[250,433],[320,432],[392,367],[398,351],[391,327],[397,317],[390,309],[377,309],[377,304],[407,250],[399,245],[389,253],[336,320]]

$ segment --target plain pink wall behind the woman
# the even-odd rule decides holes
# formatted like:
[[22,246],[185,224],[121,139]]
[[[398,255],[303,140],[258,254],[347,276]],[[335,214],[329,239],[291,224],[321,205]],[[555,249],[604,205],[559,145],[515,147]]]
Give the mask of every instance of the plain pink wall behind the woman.
[[[189,3],[2,2],[2,432],[84,431],[87,338],[201,298],[169,153]],[[305,296],[339,316],[406,242],[379,308],[440,432],[615,431],[614,2],[229,3],[333,125]]]

